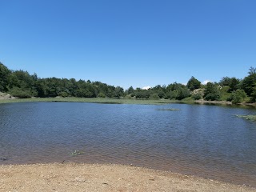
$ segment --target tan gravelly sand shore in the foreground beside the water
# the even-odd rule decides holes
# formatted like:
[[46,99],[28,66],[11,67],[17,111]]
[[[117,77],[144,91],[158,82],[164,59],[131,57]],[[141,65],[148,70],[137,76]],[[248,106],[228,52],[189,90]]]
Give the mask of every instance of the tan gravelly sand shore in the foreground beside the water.
[[35,164],[0,166],[0,191],[256,191],[204,178],[134,166]]

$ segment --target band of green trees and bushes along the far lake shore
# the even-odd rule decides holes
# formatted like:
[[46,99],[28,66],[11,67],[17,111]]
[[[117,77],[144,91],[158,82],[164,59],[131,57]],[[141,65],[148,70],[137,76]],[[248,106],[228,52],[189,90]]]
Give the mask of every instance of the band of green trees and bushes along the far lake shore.
[[0,91],[17,98],[137,98],[230,101],[233,103],[256,101],[256,68],[250,67],[243,79],[224,77],[219,82],[202,85],[191,77],[186,85],[178,82],[168,86],[154,86],[149,90],[124,90],[120,86],[110,86],[102,82],[75,80],[74,78],[39,78],[25,70],[10,70],[0,62]]

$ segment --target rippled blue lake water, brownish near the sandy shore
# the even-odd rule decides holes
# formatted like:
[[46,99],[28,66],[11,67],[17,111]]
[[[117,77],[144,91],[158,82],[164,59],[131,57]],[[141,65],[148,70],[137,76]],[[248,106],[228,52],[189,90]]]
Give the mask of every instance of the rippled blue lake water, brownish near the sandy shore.
[[[166,108],[180,110],[158,110]],[[186,104],[2,104],[0,164],[133,164],[256,186],[256,122],[234,114],[256,110]],[[74,150],[84,153],[73,157]]]

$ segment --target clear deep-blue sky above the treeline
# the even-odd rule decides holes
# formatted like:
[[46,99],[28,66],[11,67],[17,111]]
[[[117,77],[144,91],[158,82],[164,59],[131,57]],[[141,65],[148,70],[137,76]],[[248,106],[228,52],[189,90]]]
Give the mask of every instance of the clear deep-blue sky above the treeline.
[[1,0],[0,62],[40,78],[143,87],[256,66],[255,0]]

